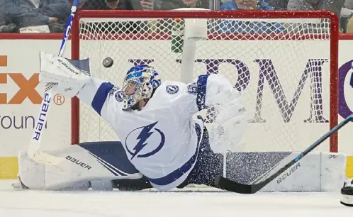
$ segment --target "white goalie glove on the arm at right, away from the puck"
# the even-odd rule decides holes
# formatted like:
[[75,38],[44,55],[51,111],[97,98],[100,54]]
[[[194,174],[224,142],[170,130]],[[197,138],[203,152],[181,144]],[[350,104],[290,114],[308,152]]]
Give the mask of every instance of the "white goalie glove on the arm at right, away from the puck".
[[208,133],[212,150],[217,153],[242,150],[240,140],[247,126],[242,94],[220,75],[210,79],[207,91],[208,119],[212,122]]

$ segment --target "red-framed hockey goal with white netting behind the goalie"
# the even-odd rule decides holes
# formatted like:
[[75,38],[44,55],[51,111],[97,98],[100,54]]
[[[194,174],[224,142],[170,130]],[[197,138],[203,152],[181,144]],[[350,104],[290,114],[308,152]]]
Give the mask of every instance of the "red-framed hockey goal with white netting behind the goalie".
[[[330,12],[79,11],[75,19],[72,57],[89,57],[91,74],[117,86],[140,64],[154,66],[162,82],[227,77],[248,112],[240,151],[301,151],[337,124],[338,26]],[[72,109],[72,143],[118,140],[91,107],[74,101]],[[201,112],[208,125],[213,112]],[[337,135],[325,143],[321,150],[337,152]]]

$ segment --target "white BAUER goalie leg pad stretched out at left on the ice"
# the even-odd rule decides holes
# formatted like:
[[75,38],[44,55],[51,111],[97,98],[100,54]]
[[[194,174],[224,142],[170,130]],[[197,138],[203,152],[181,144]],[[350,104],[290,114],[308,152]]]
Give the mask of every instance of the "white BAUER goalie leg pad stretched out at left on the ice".
[[[117,146],[111,145],[111,147]],[[91,151],[86,149],[88,147]],[[29,189],[84,190],[91,187],[93,190],[99,191],[113,189],[112,180],[140,179],[142,177],[135,167],[126,165],[130,163],[127,157],[125,157],[125,161],[121,161],[121,156],[119,158],[111,157],[109,160],[105,160],[103,154],[99,157],[99,153],[106,153],[107,149],[104,147],[107,146],[100,143],[86,145],[86,148],[82,148],[80,145],[70,145],[62,150],[50,152],[50,155],[63,159],[60,165],[55,166],[34,162],[26,152],[21,152],[18,157],[20,167],[18,177]],[[101,152],[101,148],[103,148],[103,152]],[[118,150],[111,151],[117,152]],[[128,170],[129,172],[122,170],[130,166],[134,170]]]

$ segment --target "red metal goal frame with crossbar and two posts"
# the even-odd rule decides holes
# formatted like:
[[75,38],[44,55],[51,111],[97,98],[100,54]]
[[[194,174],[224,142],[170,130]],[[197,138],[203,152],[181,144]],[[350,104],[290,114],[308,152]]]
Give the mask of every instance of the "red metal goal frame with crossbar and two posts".
[[[78,11],[72,23],[71,57],[79,60],[80,18],[327,18],[330,19],[330,129],[338,123],[339,21],[332,11]],[[233,33],[237,35],[237,33]],[[71,143],[79,144],[79,99],[71,101]],[[338,133],[330,137],[330,152],[338,152]]]

